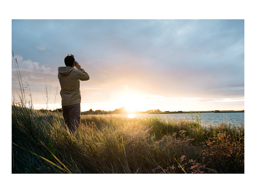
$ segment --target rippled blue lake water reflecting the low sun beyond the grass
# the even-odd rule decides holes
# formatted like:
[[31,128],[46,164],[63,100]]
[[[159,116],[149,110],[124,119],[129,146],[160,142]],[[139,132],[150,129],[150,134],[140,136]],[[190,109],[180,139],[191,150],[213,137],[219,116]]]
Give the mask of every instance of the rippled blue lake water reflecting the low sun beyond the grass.
[[[100,115],[101,116],[101,115]],[[104,115],[105,116],[105,115]],[[231,126],[234,124],[236,127],[244,127],[244,112],[202,112],[202,113],[165,113],[165,114],[123,114],[123,115],[112,115],[112,116],[125,116],[129,118],[136,117],[160,117],[161,119],[171,119],[171,120],[196,120],[196,117],[199,116],[203,126],[216,126],[221,122],[231,123]]]

